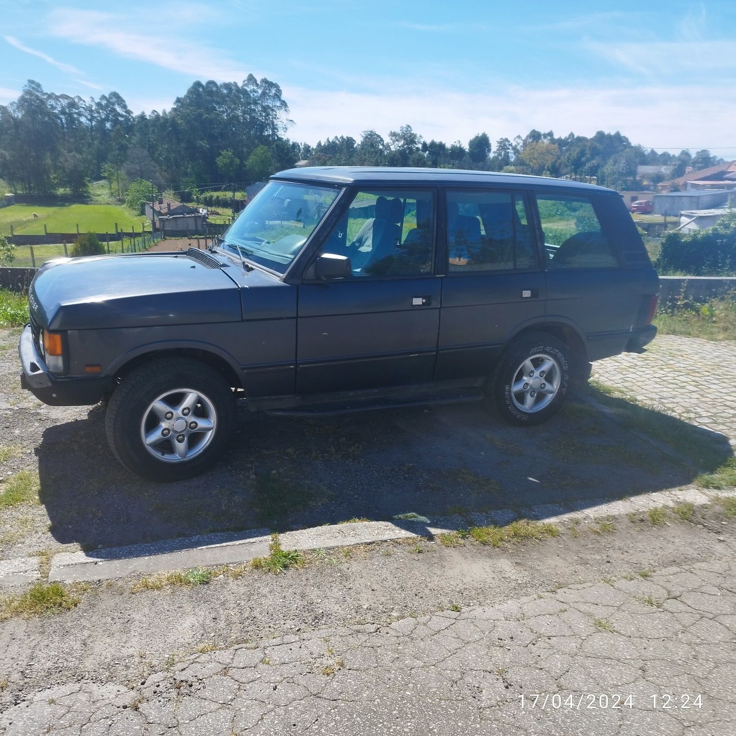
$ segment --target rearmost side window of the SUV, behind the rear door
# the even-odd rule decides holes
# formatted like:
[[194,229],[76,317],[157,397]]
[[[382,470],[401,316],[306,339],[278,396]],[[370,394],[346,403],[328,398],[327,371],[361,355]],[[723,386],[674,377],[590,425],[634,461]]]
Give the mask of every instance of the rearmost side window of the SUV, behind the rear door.
[[587,197],[537,194],[549,269],[618,266],[615,252]]

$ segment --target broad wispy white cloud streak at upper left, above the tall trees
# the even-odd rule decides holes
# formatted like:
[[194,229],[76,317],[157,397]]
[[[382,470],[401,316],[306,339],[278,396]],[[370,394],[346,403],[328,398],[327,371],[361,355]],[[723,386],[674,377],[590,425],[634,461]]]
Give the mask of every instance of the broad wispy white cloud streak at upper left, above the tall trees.
[[[234,82],[245,79],[250,70],[223,54],[192,40],[186,40],[169,31],[166,38],[165,22],[169,17],[158,18],[155,32],[146,34],[146,24],[141,18],[130,25],[130,18],[96,10],[54,10],[49,15],[47,32],[71,43],[99,46],[128,59],[155,64],[197,79],[215,79],[217,82]],[[164,21],[164,22],[159,22]],[[126,27],[127,26],[127,27]],[[80,32],[79,29],[84,29]]]

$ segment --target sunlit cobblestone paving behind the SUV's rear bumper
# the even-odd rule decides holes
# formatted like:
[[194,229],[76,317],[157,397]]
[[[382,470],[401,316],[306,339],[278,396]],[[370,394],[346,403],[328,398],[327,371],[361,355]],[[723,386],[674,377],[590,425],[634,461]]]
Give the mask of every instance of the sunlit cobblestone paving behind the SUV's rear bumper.
[[734,364],[736,342],[660,335],[646,353],[595,362],[592,377],[736,445],[736,400],[723,385]]

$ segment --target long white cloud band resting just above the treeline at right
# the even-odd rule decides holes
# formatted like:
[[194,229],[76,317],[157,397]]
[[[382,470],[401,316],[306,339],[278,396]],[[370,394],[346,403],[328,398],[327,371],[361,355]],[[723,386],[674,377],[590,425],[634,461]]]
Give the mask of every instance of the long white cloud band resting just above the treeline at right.
[[432,90],[381,95],[287,86],[283,94],[296,123],[289,137],[311,144],[333,135],[358,139],[369,129],[386,137],[408,123],[426,139],[446,142],[467,143],[481,131],[496,141],[532,128],[556,135],[620,130],[634,144],[696,149],[731,144],[736,118],[736,91],[720,87],[515,87],[496,94]]

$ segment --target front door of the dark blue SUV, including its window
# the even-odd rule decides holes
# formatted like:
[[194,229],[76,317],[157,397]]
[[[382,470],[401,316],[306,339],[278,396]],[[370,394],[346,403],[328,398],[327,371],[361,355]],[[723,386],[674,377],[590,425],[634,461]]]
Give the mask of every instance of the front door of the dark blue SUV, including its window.
[[360,191],[322,247],[352,276],[299,286],[297,394],[432,380],[441,286],[434,191]]

